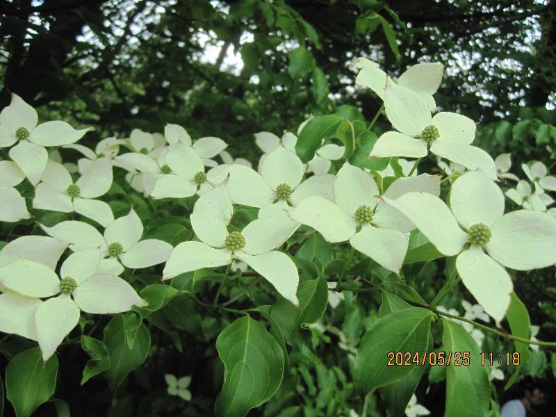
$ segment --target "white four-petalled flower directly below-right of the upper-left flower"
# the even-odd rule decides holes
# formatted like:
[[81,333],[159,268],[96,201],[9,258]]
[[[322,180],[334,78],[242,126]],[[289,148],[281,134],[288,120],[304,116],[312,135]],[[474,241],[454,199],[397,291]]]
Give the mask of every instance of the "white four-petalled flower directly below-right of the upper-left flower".
[[106,194],[112,181],[112,167],[106,158],[97,159],[75,183],[64,165],[48,161],[35,188],[33,208],[62,213],[75,211],[106,226],[114,221],[112,209],[95,198]]

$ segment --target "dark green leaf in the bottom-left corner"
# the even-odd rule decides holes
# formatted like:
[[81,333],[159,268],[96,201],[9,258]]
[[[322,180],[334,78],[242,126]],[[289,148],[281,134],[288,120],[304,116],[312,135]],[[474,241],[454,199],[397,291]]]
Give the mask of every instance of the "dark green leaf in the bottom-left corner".
[[31,416],[47,402],[56,389],[58,357],[42,361],[39,347],[24,350],[6,366],[6,397],[13,404],[17,417]]

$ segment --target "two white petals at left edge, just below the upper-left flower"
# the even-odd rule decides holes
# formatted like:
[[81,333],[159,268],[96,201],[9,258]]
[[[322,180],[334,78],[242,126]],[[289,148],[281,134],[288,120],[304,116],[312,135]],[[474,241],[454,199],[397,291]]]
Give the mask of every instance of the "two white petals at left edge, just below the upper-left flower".
[[25,174],[12,161],[0,161],[0,222],[17,222],[31,218],[25,199],[14,187],[25,179]]

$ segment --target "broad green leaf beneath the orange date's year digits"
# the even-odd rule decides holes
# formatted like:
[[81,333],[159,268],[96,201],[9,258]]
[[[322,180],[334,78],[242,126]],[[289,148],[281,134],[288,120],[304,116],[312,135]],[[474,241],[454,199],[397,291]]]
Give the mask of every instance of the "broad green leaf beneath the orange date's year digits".
[[354,363],[354,382],[361,396],[404,378],[414,368],[388,366],[389,352],[423,352],[427,349],[434,314],[411,307],[377,320],[361,338]]

